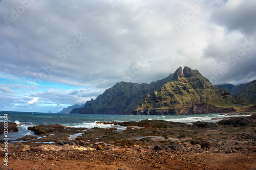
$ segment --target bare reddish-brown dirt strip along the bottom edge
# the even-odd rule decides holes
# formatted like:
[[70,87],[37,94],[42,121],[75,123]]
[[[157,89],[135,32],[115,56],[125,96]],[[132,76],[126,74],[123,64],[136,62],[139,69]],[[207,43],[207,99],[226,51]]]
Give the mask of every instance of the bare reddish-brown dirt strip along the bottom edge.
[[69,146],[60,151],[14,150],[11,155],[8,167],[1,162],[0,169],[256,169],[255,152],[191,153],[140,147],[71,150]]

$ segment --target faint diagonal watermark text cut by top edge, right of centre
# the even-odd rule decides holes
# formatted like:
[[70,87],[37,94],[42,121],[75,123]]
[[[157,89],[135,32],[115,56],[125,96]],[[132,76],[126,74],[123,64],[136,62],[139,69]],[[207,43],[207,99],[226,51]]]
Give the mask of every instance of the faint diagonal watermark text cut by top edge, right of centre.
[[175,26],[177,32],[179,33],[182,28],[184,28],[186,25],[188,25],[190,20],[194,19],[195,16],[200,13],[201,8],[204,8],[204,7],[206,7],[206,3],[204,0],[200,0],[198,2],[198,5],[189,6],[189,8],[191,10],[187,11],[186,14],[183,14],[183,13],[181,14],[180,22],[178,22],[178,21],[174,22],[174,26]]

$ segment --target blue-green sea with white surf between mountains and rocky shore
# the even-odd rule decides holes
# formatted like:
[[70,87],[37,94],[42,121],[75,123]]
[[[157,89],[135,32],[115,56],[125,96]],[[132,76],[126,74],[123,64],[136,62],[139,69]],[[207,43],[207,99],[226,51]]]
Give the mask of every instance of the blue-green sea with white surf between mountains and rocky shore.
[[[13,112],[0,111],[0,122],[5,121],[5,115],[8,116],[8,122],[18,125],[18,132],[8,132],[9,140],[16,140],[26,135],[35,135],[28,130],[28,127],[36,125],[59,124],[74,128],[117,128],[123,131],[126,127],[120,125],[103,125],[99,122],[129,122],[140,120],[166,120],[172,122],[181,122],[191,124],[193,122],[218,122],[220,119],[230,117],[228,114],[200,114],[200,115],[105,115],[105,114],[65,114],[65,113],[38,113],[38,112]],[[239,115],[231,115],[239,116]],[[249,116],[249,115],[248,115]],[[4,134],[0,134],[0,139],[4,139]]]

